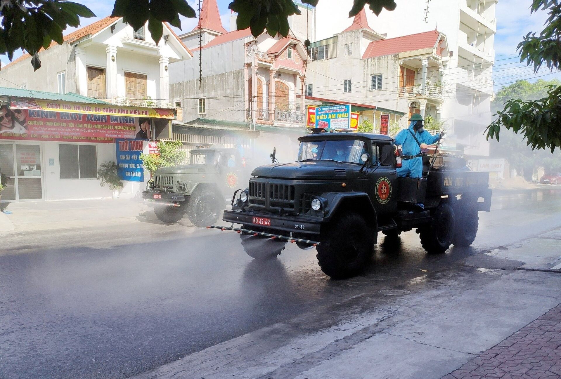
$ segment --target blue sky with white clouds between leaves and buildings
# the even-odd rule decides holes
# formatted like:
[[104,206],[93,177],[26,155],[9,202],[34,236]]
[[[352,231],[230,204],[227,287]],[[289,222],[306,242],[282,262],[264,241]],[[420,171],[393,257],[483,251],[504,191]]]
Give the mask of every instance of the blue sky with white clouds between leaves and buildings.
[[[84,4],[85,6],[89,7],[97,17],[92,19],[82,19],[81,25],[89,25],[92,22],[99,20],[111,13],[113,10],[114,0],[75,0]],[[194,0],[187,0],[188,3],[194,8],[197,9],[198,1]],[[217,0],[218,1],[218,8],[220,11],[220,16],[222,17],[222,23],[226,30],[230,30],[230,15],[231,12],[228,9],[228,4],[231,0]],[[397,0],[398,7],[402,3],[407,3],[407,1],[421,1],[421,0]],[[514,72],[520,73],[519,78],[526,78],[530,81],[537,80],[537,78],[542,78],[545,80],[549,80],[550,78],[556,77],[561,79],[561,72],[554,72],[553,75],[550,73],[547,68],[542,68],[537,74],[534,73],[531,67],[523,69],[526,66],[525,63],[517,63],[518,59],[515,58],[516,56],[516,46],[522,40],[522,36],[526,35],[528,32],[532,31],[541,31],[543,29],[544,21],[547,18],[545,12],[538,12],[534,13],[534,15],[530,15],[530,6],[531,0],[499,0],[496,4],[496,11],[495,17],[497,19],[497,31],[495,35],[495,56],[496,59],[504,59],[504,57],[510,58],[508,62],[508,66],[504,63],[502,64],[502,70],[496,70],[494,73],[494,80],[495,80],[495,90],[499,90],[501,84],[509,82],[511,80],[512,75],[510,77],[506,76],[505,74],[505,67],[506,68],[513,68],[516,70]],[[384,12],[384,11],[383,11]],[[341,17],[346,17],[346,15],[341,15]],[[381,13],[380,17],[383,17],[383,13]],[[185,33],[187,31],[192,30],[196,24],[196,19],[186,19],[182,17],[182,31],[176,30],[178,34]],[[69,28],[65,34],[70,33],[75,28]],[[21,52],[17,52],[15,54],[15,58],[19,57]],[[500,58],[503,57],[503,58]],[[2,60],[2,66],[7,64],[8,58],[6,56],[0,56]],[[504,62],[504,61],[503,61]],[[500,64],[500,63],[496,63]],[[512,66],[511,66],[512,65]]]

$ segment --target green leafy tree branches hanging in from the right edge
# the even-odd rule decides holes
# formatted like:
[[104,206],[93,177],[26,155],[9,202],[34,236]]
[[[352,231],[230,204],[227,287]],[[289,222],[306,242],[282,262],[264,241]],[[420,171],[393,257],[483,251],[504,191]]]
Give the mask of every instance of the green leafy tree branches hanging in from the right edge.
[[[533,0],[531,13],[548,10],[548,19],[540,34],[528,33],[518,44],[521,62],[532,64],[537,72],[545,64],[551,71],[559,70],[561,59],[561,5],[559,0]],[[561,86],[552,85],[537,100],[510,99],[496,119],[487,127],[487,139],[499,141],[501,127],[520,133],[532,149],[561,147]]]

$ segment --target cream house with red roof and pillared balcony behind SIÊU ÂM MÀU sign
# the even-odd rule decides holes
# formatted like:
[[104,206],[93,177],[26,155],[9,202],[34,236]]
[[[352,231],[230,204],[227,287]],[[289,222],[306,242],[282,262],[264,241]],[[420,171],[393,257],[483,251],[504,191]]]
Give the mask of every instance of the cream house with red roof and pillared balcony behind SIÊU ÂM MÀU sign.
[[373,109],[360,112],[360,121],[370,119],[376,130],[384,113],[392,124],[412,113],[440,118],[449,53],[447,38],[438,30],[385,38],[369,26],[363,9],[347,29],[308,50],[309,99],[370,105]]

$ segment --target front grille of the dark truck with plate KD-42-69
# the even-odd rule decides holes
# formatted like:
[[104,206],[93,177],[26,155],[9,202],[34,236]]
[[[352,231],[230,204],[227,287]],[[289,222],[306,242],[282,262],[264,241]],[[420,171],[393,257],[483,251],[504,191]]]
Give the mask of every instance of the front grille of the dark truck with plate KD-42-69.
[[269,182],[249,182],[249,204],[261,209],[295,209],[295,186]]

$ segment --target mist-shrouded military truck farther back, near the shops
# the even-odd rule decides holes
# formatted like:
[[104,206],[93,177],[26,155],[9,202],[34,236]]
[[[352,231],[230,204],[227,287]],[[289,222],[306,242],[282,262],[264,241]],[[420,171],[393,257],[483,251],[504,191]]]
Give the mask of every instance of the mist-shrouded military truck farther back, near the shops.
[[199,147],[190,151],[187,165],[156,170],[142,198],[154,201],[164,223],[177,223],[187,214],[196,227],[215,223],[249,170],[237,149]]

